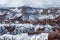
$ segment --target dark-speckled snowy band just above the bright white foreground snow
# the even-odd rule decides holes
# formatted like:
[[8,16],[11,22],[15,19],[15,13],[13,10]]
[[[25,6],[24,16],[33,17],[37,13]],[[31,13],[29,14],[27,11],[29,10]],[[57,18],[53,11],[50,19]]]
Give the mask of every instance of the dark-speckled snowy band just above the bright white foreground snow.
[[39,28],[45,28],[44,31],[45,32],[53,32],[52,28],[53,26],[51,25],[33,25],[33,24],[1,24],[0,26],[0,35],[2,34],[6,34],[8,31],[5,28],[5,26],[10,26],[13,27],[15,26],[15,30],[10,32],[9,34],[21,34],[21,33],[27,33],[27,32],[35,32],[37,31]]

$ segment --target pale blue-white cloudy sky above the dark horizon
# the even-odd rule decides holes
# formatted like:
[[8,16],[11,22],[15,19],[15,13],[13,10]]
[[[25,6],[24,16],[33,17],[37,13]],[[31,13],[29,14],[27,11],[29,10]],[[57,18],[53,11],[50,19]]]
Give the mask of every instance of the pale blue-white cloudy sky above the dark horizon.
[[0,7],[60,7],[60,0],[0,0]]

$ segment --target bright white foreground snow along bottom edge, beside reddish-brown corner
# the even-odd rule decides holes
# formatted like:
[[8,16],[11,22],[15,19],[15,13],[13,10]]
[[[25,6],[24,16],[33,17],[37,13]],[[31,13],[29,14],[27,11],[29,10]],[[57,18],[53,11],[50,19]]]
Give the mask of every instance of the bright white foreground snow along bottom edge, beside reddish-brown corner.
[[29,36],[27,33],[10,35],[4,34],[0,36],[0,40],[48,40],[48,33],[41,33]]

